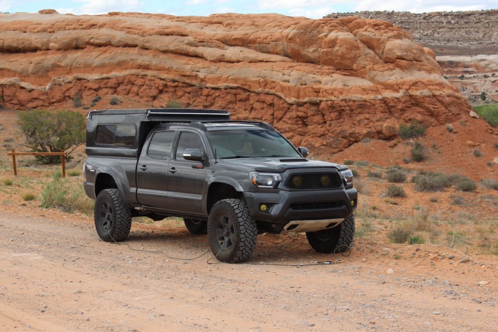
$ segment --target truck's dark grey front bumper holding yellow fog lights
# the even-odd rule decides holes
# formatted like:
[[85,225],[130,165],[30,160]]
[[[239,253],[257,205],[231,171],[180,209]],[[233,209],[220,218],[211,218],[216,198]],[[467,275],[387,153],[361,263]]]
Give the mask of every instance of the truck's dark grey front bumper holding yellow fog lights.
[[[293,220],[346,218],[358,204],[356,189],[306,190],[244,193],[252,217],[257,221],[287,224]],[[353,201],[353,205],[351,202]],[[268,210],[263,212],[260,205]]]

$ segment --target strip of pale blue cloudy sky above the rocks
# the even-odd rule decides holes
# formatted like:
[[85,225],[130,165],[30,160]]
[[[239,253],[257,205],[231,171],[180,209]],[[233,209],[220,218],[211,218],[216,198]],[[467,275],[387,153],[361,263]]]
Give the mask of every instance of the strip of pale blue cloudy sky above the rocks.
[[103,14],[138,11],[171,15],[213,13],[280,13],[321,18],[332,12],[397,10],[411,12],[498,9],[497,0],[0,0],[1,12],[37,12],[56,9],[60,13]]

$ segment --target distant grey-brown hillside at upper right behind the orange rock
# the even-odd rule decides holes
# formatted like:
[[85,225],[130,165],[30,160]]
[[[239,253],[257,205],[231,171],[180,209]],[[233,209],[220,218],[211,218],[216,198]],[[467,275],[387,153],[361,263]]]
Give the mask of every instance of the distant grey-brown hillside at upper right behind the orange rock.
[[413,39],[436,55],[498,54],[498,10],[429,12],[358,11],[325,17],[360,16],[383,19],[408,30]]

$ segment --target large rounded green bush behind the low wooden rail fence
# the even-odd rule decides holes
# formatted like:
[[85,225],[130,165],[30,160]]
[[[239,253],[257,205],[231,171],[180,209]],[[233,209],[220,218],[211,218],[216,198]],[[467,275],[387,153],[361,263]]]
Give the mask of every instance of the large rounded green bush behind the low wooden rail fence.
[[[19,113],[18,123],[31,152],[66,151],[69,155],[85,142],[85,119],[79,112],[25,111]],[[60,161],[60,156],[35,158],[48,164]]]

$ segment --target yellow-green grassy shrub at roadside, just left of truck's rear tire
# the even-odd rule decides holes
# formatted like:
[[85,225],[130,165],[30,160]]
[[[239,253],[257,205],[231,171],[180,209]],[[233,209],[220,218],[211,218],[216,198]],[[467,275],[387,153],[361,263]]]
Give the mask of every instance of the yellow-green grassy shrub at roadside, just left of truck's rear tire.
[[40,206],[43,208],[56,207],[64,212],[79,211],[91,214],[94,201],[88,198],[80,186],[74,187],[67,179],[62,178],[58,170],[41,192]]

